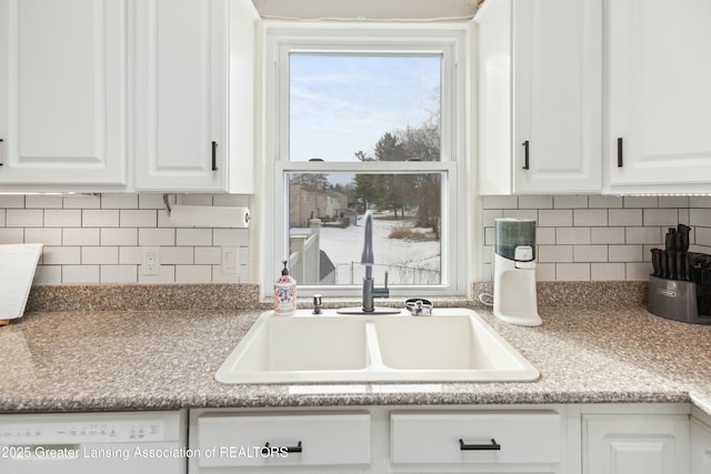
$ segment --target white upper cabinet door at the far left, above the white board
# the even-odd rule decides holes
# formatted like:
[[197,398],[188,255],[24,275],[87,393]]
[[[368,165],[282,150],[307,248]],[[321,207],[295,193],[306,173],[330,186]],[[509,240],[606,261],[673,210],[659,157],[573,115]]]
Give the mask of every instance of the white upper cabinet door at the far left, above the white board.
[[124,0],[0,0],[0,183],[127,182]]

